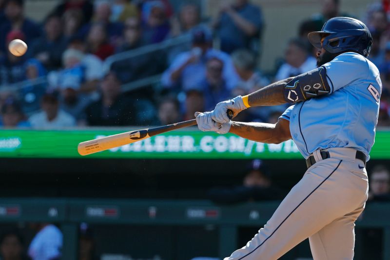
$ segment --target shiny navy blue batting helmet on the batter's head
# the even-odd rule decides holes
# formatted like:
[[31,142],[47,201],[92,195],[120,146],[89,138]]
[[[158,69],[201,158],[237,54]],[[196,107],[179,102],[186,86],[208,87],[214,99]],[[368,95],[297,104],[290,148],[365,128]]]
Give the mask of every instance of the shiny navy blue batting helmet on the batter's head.
[[330,53],[354,51],[364,57],[369,56],[372,45],[367,26],[350,17],[331,18],[325,22],[321,31],[309,33],[308,38],[314,47],[323,47]]

